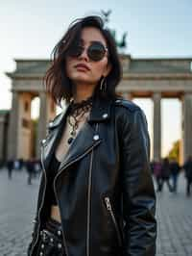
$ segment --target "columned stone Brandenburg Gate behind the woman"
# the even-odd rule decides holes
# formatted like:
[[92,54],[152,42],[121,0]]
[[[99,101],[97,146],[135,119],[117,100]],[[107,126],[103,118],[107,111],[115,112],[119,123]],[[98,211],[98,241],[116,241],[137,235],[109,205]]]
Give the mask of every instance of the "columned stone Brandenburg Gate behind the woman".
[[[153,159],[158,161],[161,152],[161,99],[178,98],[182,109],[181,159],[192,155],[192,58],[132,59],[120,55],[123,79],[117,92],[125,98],[148,97],[154,102]],[[46,124],[56,115],[56,106],[42,86],[42,77],[49,66],[48,60],[15,60],[16,69],[7,72],[12,79],[12,112],[9,125],[8,159],[32,157],[36,147],[39,158],[39,141],[46,135]],[[31,122],[31,102],[40,101],[36,142]],[[174,118],[174,115],[170,116]]]

